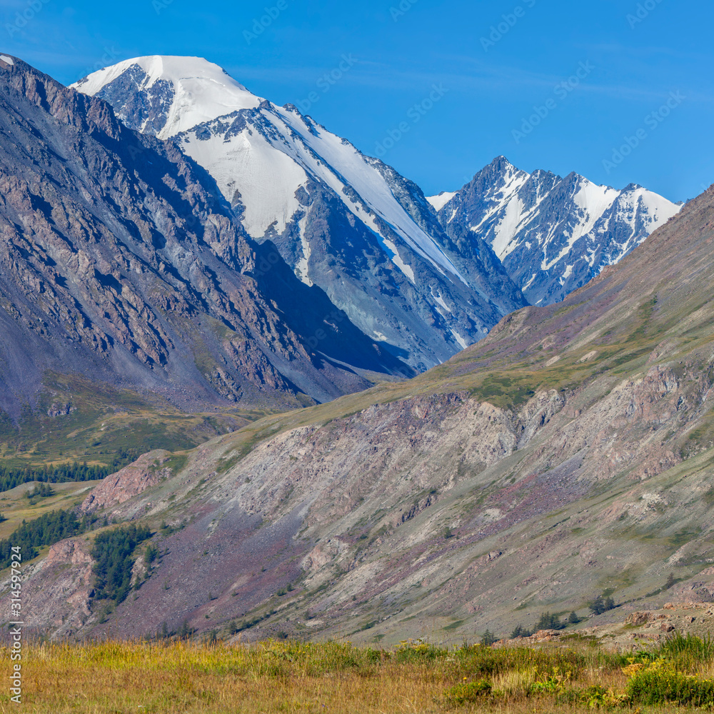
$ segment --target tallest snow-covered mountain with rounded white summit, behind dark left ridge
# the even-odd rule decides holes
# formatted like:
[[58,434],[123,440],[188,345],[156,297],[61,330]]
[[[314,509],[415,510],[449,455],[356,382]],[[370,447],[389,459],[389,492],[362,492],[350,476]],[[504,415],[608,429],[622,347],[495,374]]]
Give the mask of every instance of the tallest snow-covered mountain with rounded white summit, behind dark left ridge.
[[491,248],[456,246],[411,181],[206,60],[141,57],[75,86],[128,126],[176,141],[253,238],[275,243],[304,283],[417,369],[526,304]]

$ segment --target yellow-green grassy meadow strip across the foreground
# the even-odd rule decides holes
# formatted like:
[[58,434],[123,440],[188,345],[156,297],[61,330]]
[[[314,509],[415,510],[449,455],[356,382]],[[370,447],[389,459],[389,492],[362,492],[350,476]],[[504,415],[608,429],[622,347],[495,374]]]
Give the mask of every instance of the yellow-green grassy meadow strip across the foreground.
[[[0,676],[9,681],[9,653]],[[332,712],[669,713],[714,706],[714,645],[680,635],[655,650],[572,646],[393,650],[268,641],[38,644],[23,652],[21,709],[39,714]],[[0,710],[17,711],[9,686]]]

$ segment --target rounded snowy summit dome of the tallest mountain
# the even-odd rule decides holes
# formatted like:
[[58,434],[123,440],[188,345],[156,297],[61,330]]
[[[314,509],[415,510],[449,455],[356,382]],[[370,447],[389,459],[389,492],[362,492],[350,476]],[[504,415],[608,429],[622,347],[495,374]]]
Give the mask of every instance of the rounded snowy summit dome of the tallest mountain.
[[136,57],[100,69],[71,86],[104,99],[106,86],[123,79],[128,80],[126,91],[138,95],[147,108],[144,123],[135,128],[160,139],[233,111],[255,109],[263,101],[202,57]]

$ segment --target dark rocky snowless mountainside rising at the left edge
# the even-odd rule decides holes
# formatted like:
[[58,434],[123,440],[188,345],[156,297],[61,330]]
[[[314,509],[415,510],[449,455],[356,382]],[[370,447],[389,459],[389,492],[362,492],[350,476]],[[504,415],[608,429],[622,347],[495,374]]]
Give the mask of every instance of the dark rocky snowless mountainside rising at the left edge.
[[285,407],[411,370],[271,243],[202,169],[111,106],[0,61],[0,408],[48,373],[181,408]]

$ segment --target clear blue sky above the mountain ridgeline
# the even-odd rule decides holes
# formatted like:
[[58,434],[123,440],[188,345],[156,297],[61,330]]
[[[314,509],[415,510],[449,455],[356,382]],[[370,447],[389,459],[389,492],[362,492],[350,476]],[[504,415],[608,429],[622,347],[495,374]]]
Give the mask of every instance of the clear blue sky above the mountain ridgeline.
[[499,154],[673,200],[714,182],[710,0],[0,0],[0,11],[0,51],[65,84],[133,56],[205,56],[255,94],[309,106],[426,193]]

